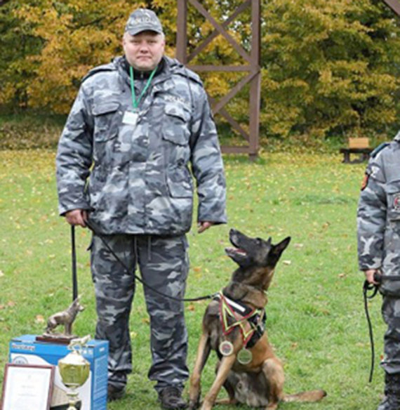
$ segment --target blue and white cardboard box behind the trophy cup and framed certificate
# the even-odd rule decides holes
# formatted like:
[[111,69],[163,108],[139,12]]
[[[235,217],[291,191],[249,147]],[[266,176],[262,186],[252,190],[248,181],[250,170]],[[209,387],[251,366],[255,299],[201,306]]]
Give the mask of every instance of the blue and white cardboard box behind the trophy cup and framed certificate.
[[[37,341],[35,335],[24,335],[11,340],[9,362],[57,366],[58,360],[70,352],[67,345]],[[86,383],[77,389],[81,399],[81,410],[106,410],[108,342],[89,340],[82,355],[90,363],[91,371]],[[66,390],[56,367],[51,409],[67,408]]]

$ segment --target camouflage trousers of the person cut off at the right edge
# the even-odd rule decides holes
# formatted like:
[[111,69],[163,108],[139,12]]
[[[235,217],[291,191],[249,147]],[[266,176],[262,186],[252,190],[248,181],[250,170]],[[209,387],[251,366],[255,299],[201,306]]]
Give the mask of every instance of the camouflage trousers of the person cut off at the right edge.
[[381,366],[389,374],[400,373],[400,298],[383,296],[382,317],[387,331],[384,336],[385,357]]

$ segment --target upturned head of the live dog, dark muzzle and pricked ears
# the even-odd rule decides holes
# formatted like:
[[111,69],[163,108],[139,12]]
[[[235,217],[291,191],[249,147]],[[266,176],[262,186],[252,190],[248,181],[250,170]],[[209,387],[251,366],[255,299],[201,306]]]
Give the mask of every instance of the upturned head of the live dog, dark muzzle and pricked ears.
[[234,273],[235,280],[267,289],[274,273],[274,267],[286,249],[291,237],[286,237],[279,244],[272,244],[272,239],[251,238],[238,230],[229,231],[229,240],[233,247],[225,249],[227,256],[239,265]]

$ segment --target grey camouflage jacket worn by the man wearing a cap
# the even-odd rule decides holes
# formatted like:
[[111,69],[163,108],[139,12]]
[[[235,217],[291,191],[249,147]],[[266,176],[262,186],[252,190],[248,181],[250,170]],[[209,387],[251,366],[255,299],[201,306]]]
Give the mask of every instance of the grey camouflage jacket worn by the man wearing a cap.
[[134,126],[124,119],[133,104],[122,61],[91,70],[69,113],[56,158],[60,214],[86,209],[105,234],[182,234],[194,176],[197,220],[226,223],[218,135],[199,77],[164,57]]

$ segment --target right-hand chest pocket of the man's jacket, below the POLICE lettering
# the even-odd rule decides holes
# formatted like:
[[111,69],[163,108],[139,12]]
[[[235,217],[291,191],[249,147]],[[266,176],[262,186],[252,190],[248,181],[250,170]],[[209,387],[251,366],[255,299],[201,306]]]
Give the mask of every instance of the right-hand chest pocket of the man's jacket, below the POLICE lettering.
[[176,145],[188,145],[190,112],[182,105],[168,103],[164,108],[163,138]]

